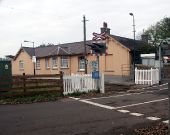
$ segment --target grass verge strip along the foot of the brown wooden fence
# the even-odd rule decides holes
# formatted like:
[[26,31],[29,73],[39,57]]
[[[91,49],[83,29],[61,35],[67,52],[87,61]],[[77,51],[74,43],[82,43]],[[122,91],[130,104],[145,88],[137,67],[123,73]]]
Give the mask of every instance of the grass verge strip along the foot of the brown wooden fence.
[[0,104],[24,104],[35,102],[56,101],[62,98],[59,91],[29,91],[29,92],[1,92]]

